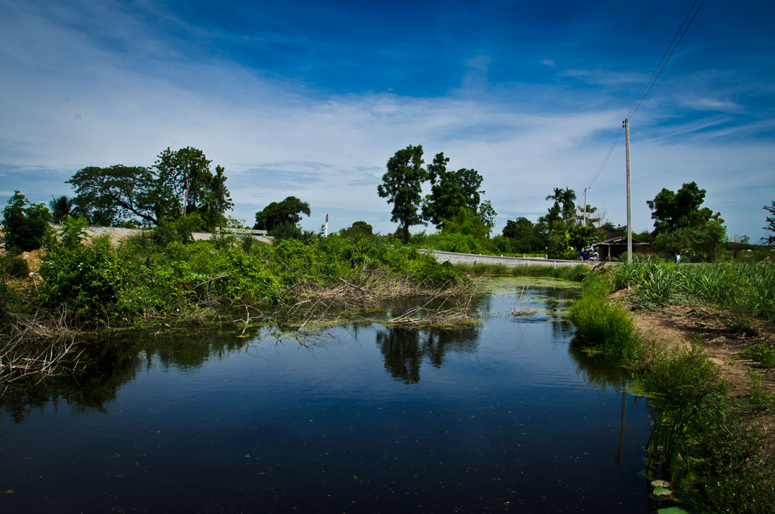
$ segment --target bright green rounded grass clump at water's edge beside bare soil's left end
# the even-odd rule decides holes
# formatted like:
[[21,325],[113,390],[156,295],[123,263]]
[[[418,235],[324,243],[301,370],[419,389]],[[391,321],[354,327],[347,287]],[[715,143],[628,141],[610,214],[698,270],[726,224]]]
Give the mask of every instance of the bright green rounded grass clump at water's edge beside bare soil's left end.
[[635,360],[642,348],[640,337],[629,313],[608,300],[609,288],[603,275],[593,273],[585,278],[584,295],[570,308],[570,319],[577,328],[574,343]]

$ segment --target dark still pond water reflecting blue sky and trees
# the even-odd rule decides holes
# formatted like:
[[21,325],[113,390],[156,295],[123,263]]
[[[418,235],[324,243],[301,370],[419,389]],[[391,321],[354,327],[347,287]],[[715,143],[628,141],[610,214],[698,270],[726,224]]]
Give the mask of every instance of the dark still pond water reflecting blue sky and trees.
[[111,343],[0,399],[0,512],[649,512],[645,402],[570,349],[576,286],[490,286],[458,331]]

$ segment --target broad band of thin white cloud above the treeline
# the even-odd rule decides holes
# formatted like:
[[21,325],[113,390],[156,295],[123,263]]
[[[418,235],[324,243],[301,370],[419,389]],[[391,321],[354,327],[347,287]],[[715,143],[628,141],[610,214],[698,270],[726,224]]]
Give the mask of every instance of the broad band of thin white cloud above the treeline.
[[[124,39],[142,40],[142,27],[133,23],[126,26]],[[580,195],[622,120],[621,101],[605,92],[591,105],[577,91],[535,85],[515,86],[507,91],[508,101],[487,94],[326,96],[269,81],[229,60],[190,62],[174,49],[175,58],[157,60],[166,49],[155,40],[146,40],[141,50],[108,51],[44,16],[6,19],[0,29],[5,31],[0,47],[4,188],[22,189],[33,198],[26,189],[45,184],[34,188],[40,196],[36,202],[61,194],[51,184],[60,184],[80,167],[150,165],[167,146],[191,145],[226,167],[239,218],[250,221],[263,205],[295,195],[312,205],[308,229],[317,229],[321,213],[331,211],[337,213],[332,229],[365,219],[387,233],[394,230],[391,205],[377,197],[376,181],[396,150],[422,144],[426,161],[443,151],[450,166],[479,170],[496,210],[543,213],[553,187],[569,186]],[[30,41],[36,43],[29,46]],[[487,87],[490,64],[489,57],[474,57],[463,80],[470,88]],[[553,66],[554,61],[543,64]],[[642,85],[647,78],[601,70],[565,74],[596,85]],[[697,102],[711,105],[708,99]],[[703,139],[707,129],[726,119],[659,129],[654,112],[644,104],[640,131],[633,132],[635,228],[651,226],[646,199],[663,187],[675,190],[694,180],[708,189],[712,208],[725,214],[724,205],[730,205],[731,232],[758,237],[759,204],[775,197],[771,144],[720,144],[724,130],[746,130],[727,126],[714,130],[708,144]],[[773,126],[761,123],[760,129]],[[679,134],[703,136],[674,145]],[[753,192],[743,189],[757,184]],[[589,202],[625,223],[624,196],[624,150],[618,147]],[[499,224],[505,224],[504,216]]]

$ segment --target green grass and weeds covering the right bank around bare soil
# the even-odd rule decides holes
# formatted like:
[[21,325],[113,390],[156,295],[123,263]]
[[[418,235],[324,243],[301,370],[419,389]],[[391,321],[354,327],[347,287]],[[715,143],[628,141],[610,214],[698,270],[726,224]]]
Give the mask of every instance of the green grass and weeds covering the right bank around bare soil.
[[[718,291],[707,277],[721,276],[726,287],[757,290],[770,272],[764,265],[703,268],[647,259],[612,273],[589,274],[582,298],[571,307],[577,326],[574,343],[632,361],[636,388],[649,395],[652,409],[653,432],[646,449],[650,478],[672,481],[680,500],[697,512],[772,512],[775,456],[763,454],[761,436],[751,425],[752,413],[773,405],[761,380],[754,379],[749,397],[730,397],[699,340],[646,357],[629,312],[608,298],[612,289],[628,286],[641,302],[662,303],[690,294],[706,298],[708,288]],[[741,298],[741,293],[728,292],[724,298],[730,305],[729,298]],[[746,312],[759,312],[755,305],[732,302]],[[763,367],[770,363],[771,351],[766,341],[749,350]]]

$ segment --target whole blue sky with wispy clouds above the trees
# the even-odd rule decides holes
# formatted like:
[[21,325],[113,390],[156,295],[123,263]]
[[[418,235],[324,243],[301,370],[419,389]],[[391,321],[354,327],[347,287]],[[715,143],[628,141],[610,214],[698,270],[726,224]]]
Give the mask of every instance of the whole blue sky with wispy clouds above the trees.
[[[233,216],[295,195],[302,225],[364,220],[408,144],[474,167],[507,219],[582,195],[689,11],[672,2],[0,2],[0,202],[71,195],[85,166],[194,146]],[[631,126],[633,229],[696,181],[729,233],[775,199],[772,2],[705,2]],[[623,140],[588,195],[624,224]],[[422,226],[415,227],[422,229]]]

